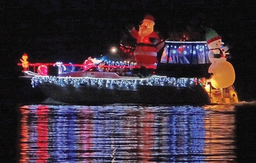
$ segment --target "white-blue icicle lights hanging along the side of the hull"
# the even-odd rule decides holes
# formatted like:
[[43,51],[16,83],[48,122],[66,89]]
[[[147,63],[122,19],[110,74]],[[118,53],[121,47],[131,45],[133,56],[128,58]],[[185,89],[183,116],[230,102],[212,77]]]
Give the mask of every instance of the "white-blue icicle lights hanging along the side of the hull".
[[137,85],[159,85],[174,87],[189,87],[195,85],[195,78],[168,78],[162,76],[152,76],[145,79],[109,79],[109,78],[72,78],[72,77],[55,77],[55,76],[35,76],[32,79],[32,86],[35,87],[42,83],[53,83],[62,87],[73,85],[78,88],[81,86],[137,90]]

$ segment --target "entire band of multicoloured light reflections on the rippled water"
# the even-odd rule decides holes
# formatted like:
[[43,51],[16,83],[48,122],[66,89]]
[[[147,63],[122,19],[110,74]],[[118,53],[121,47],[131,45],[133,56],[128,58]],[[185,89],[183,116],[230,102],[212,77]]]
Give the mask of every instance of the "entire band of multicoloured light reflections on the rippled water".
[[19,108],[20,162],[235,162],[232,106]]

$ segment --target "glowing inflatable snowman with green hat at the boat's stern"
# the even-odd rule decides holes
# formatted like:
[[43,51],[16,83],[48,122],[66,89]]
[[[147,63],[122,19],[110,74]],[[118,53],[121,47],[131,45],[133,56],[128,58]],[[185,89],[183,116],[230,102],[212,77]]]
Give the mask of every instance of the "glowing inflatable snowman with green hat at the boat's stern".
[[212,63],[209,67],[208,72],[212,73],[210,79],[211,84],[214,88],[227,88],[231,86],[235,81],[235,71],[231,63],[226,61],[225,52],[228,47],[222,48],[221,37],[213,30],[207,31],[207,46],[209,49],[209,60]]

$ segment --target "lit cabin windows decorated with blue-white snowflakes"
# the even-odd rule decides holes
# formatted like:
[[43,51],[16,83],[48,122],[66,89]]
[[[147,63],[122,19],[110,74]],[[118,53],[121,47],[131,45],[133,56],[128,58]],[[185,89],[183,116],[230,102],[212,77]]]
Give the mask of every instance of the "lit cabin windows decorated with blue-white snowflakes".
[[170,64],[206,64],[209,49],[206,42],[166,41],[161,63]]

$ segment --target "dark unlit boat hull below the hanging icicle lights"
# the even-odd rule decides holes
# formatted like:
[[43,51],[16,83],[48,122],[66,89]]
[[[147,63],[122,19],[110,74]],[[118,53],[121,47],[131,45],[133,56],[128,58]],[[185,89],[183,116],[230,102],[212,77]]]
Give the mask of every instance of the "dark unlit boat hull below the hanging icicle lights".
[[101,87],[56,85],[42,82],[39,88],[56,101],[78,104],[99,105],[115,103],[133,104],[210,104],[210,98],[200,85],[193,87],[138,85],[136,90],[105,89]]

